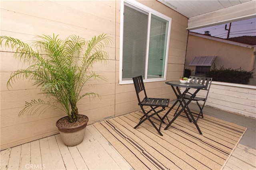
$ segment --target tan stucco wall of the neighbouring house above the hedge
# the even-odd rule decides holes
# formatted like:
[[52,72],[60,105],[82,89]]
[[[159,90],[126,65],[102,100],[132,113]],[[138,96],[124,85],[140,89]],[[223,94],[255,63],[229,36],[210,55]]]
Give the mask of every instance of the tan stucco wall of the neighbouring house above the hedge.
[[[217,68],[224,66],[224,68],[241,68],[242,70],[250,71],[255,68],[255,55],[253,51],[253,47],[242,47],[240,45],[189,35],[185,68],[190,68],[192,70],[191,74],[194,75],[196,66],[189,66],[194,57],[217,56],[214,60]],[[254,76],[250,84],[256,85],[255,80]]]

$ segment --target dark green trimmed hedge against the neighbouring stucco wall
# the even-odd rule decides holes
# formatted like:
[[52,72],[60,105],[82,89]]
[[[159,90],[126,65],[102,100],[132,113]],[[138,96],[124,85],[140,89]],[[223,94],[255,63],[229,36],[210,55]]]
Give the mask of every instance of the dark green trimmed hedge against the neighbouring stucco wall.
[[241,68],[224,68],[224,66],[221,66],[220,69],[216,69],[214,65],[213,69],[206,73],[206,77],[212,77],[213,81],[218,82],[248,84],[250,78],[253,77],[253,70],[246,71]]

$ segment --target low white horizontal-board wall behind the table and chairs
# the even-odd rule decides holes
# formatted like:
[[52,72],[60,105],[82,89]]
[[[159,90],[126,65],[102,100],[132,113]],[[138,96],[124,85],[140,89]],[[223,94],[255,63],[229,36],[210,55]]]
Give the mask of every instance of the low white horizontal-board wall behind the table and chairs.
[[[205,94],[200,90],[197,95]],[[256,119],[256,86],[213,81],[206,106]]]

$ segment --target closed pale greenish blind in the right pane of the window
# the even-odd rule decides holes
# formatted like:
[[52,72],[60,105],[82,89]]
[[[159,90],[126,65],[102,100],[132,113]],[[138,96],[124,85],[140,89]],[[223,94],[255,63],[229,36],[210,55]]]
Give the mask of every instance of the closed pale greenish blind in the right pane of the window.
[[148,78],[164,77],[168,21],[151,15]]

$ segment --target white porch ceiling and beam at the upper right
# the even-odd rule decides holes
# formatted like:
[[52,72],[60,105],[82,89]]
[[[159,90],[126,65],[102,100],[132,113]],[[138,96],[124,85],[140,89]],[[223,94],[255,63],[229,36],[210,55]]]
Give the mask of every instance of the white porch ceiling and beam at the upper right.
[[189,30],[256,17],[256,0],[158,0],[188,18]]

